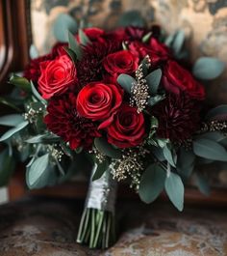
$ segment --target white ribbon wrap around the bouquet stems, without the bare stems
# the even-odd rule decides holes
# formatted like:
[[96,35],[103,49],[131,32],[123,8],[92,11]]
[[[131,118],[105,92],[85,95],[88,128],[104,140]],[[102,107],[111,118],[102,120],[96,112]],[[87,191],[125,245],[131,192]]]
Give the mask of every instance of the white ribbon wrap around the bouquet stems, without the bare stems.
[[94,165],[88,187],[86,208],[93,208],[114,213],[117,184],[108,168],[103,176],[92,182],[92,176],[97,169]]

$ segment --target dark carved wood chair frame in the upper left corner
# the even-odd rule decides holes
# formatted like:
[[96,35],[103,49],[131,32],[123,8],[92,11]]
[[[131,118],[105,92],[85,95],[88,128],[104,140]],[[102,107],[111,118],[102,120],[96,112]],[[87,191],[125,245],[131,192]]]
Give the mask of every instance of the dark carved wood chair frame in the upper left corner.
[[11,71],[22,71],[29,61],[30,1],[0,0],[0,91],[7,91]]

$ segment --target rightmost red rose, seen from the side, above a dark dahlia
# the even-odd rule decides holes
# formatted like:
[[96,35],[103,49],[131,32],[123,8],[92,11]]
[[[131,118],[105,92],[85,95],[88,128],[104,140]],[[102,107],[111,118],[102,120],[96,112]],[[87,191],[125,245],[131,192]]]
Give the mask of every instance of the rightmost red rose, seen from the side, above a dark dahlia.
[[164,89],[173,94],[187,93],[191,98],[203,100],[205,90],[203,85],[197,82],[189,71],[183,69],[175,61],[168,61],[164,67]]

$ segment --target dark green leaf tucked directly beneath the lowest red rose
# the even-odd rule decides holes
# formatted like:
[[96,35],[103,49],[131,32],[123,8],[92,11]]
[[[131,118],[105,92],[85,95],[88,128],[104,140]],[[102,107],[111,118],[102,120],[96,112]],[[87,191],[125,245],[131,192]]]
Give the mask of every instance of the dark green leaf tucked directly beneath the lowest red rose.
[[97,150],[104,154],[105,156],[110,156],[112,158],[120,158],[121,157],[121,151],[118,149],[115,149],[105,138],[95,138],[94,139],[94,145],[97,148]]

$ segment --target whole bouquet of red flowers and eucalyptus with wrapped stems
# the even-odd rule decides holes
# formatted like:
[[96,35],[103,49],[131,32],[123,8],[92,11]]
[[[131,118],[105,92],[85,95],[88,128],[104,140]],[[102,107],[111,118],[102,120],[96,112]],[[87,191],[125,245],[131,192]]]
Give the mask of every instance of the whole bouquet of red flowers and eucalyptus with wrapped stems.
[[203,85],[223,63],[191,65],[184,42],[182,31],[167,37],[157,25],[82,28],[11,77],[13,101],[4,102],[18,113],[0,118],[13,127],[0,139],[6,176],[15,156],[27,163],[30,188],[92,169],[78,242],[114,242],[116,182],[126,180],[145,203],[165,190],[182,211],[192,172],[204,184],[194,164],[227,160],[227,105],[205,107]]

